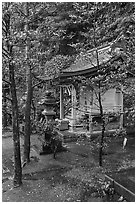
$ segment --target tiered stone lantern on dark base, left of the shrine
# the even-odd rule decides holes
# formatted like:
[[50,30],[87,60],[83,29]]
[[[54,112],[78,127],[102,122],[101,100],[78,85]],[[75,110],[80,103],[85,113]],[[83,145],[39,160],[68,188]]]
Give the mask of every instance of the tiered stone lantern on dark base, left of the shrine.
[[[44,111],[42,114],[45,116],[45,131],[43,132],[42,137],[40,138],[41,152],[40,154],[49,154],[55,152],[59,152],[64,150],[62,147],[62,140],[59,138],[58,131],[56,131],[53,126],[55,125],[55,111],[54,107],[56,104],[55,98],[52,96],[50,91],[46,92],[45,98],[40,103]],[[54,154],[55,158],[55,154]]]

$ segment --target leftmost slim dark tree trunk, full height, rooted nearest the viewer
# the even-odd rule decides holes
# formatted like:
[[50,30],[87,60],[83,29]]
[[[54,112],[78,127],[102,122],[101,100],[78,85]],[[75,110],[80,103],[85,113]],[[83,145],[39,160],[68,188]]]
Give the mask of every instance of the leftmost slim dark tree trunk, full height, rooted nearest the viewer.
[[[6,4],[7,10],[10,6],[10,3]],[[22,168],[21,168],[21,155],[20,155],[20,135],[19,135],[19,123],[18,123],[18,102],[16,95],[16,84],[14,77],[14,64],[13,64],[13,52],[12,45],[10,44],[10,14],[7,14],[5,19],[6,31],[5,35],[7,37],[6,50],[8,52],[8,64],[9,64],[9,81],[10,81],[10,91],[11,91],[11,106],[12,106],[12,129],[13,129],[13,151],[14,151],[14,187],[20,186],[22,184]]]

